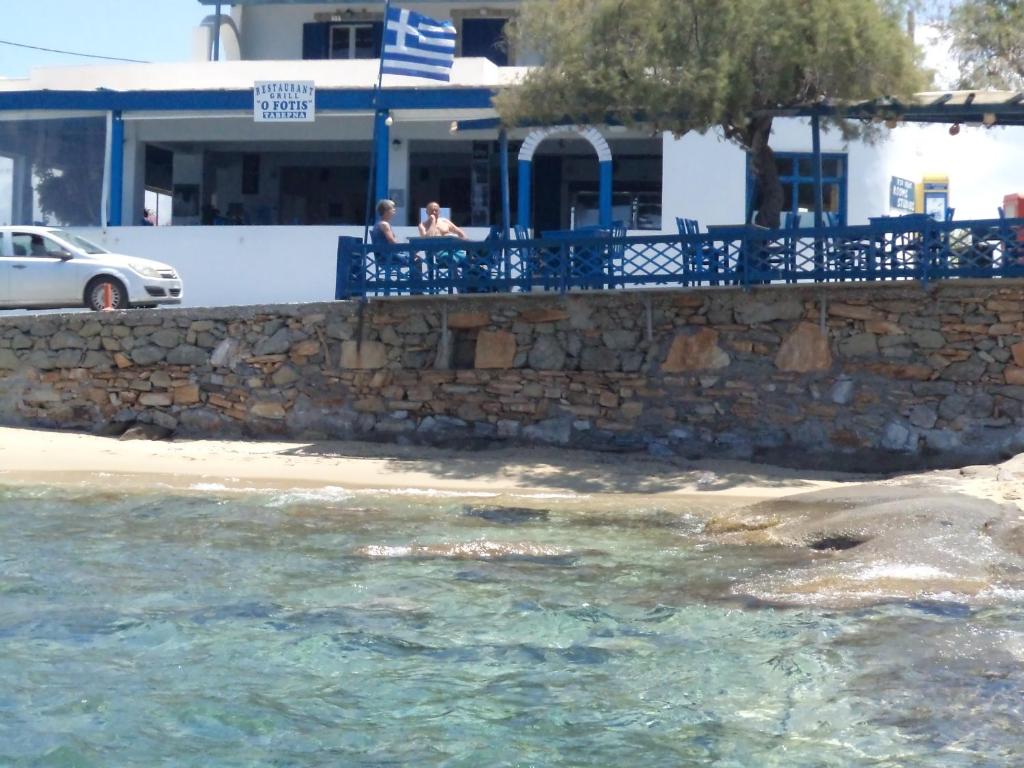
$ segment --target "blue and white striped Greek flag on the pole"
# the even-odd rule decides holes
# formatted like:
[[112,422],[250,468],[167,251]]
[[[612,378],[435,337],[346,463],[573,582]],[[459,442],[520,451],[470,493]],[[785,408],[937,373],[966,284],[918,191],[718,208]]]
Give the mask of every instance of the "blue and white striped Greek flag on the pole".
[[415,10],[388,8],[381,72],[447,82],[455,62],[455,27]]

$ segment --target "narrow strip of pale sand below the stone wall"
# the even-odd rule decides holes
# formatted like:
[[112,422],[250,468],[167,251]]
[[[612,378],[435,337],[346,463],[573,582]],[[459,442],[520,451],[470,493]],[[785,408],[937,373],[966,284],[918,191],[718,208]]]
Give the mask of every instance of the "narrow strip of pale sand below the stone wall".
[[197,481],[268,487],[337,485],[444,492],[699,495],[746,502],[836,487],[854,475],[739,462],[672,462],[645,455],[557,449],[444,451],[365,442],[118,440],[89,434],[0,428],[0,480],[60,483],[88,475],[123,485]]

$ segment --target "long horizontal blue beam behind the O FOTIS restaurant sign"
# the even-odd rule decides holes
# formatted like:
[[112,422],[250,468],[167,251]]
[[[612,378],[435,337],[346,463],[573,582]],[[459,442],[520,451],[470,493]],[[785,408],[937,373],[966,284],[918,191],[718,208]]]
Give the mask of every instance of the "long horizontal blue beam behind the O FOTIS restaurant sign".
[[[376,103],[374,90],[316,89],[318,111],[485,110],[496,91],[490,88],[385,88]],[[3,91],[0,111],[65,110],[83,112],[252,112],[253,92],[244,90],[171,91]]]

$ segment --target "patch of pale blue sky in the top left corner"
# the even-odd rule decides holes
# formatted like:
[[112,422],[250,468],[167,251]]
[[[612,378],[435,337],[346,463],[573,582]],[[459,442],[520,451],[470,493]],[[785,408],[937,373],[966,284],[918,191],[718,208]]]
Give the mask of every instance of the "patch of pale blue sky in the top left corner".
[[[212,12],[199,0],[0,0],[0,40],[144,61],[186,61],[193,29]],[[0,77],[27,77],[33,67],[90,62],[103,60],[0,43]]]

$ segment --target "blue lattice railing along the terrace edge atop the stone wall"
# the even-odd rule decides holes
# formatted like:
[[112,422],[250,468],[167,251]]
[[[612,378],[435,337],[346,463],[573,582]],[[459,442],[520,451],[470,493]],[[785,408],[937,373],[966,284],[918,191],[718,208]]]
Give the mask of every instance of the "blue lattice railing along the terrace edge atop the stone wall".
[[1024,276],[1024,219],[712,227],[679,236],[585,230],[529,240],[340,238],[336,297]]

